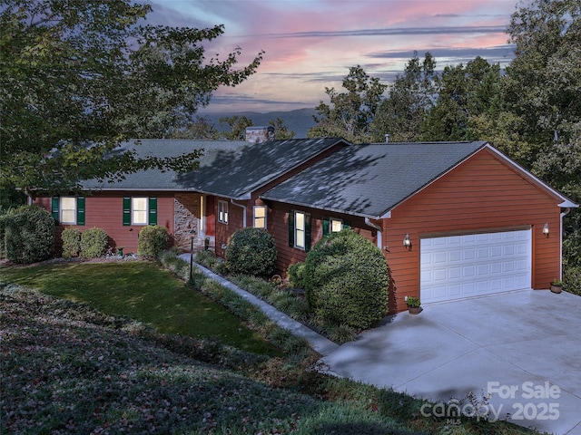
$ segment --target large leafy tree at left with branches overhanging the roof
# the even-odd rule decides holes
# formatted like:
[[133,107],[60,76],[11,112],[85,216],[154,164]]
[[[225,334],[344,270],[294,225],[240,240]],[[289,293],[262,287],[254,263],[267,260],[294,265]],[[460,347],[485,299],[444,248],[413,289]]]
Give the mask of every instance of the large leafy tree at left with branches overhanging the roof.
[[49,194],[80,179],[121,179],[144,168],[191,169],[192,158],[109,159],[123,140],[164,137],[219,86],[255,72],[261,54],[207,60],[209,29],[138,25],[150,5],[131,0],[3,0],[0,13],[0,165],[9,188]]

